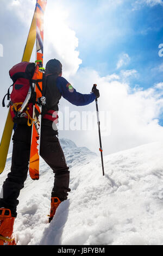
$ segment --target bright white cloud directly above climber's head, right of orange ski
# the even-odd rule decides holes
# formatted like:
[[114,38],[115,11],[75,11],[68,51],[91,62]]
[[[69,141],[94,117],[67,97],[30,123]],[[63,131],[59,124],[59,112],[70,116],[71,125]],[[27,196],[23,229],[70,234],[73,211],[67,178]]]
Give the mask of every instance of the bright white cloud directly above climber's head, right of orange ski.
[[[45,62],[50,58],[58,58],[69,77],[76,74],[82,60],[79,58],[78,38],[67,26],[68,12],[60,2],[49,2],[45,15]],[[55,25],[55,26],[54,26]]]

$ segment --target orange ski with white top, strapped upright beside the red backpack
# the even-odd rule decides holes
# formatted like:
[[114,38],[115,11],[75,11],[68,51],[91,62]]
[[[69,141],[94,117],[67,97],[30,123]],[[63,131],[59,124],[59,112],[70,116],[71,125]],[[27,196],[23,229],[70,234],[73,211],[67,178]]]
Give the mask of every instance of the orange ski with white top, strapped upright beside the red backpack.
[[[39,159],[40,159],[40,138],[41,138],[41,115],[42,104],[45,103],[45,97],[42,97],[42,82],[43,77],[43,23],[47,0],[37,0],[36,2],[36,70],[35,83],[36,101],[41,100],[41,104],[35,103],[33,107],[32,138],[30,143],[29,157],[29,174],[33,180],[39,180]],[[35,78],[33,78],[35,79]]]

